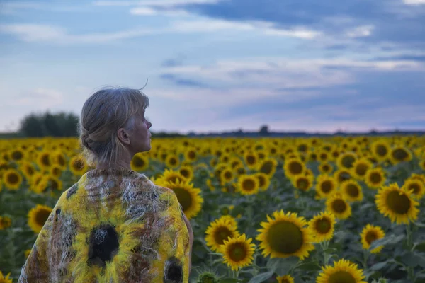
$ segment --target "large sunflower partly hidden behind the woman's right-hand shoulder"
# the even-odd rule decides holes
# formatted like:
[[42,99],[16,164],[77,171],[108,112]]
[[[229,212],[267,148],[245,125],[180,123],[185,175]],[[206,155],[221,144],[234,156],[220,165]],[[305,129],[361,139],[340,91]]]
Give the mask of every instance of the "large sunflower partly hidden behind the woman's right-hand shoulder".
[[196,216],[202,209],[203,197],[200,195],[201,191],[194,188],[192,183],[176,180],[176,183],[164,183],[163,186],[174,191],[188,219]]

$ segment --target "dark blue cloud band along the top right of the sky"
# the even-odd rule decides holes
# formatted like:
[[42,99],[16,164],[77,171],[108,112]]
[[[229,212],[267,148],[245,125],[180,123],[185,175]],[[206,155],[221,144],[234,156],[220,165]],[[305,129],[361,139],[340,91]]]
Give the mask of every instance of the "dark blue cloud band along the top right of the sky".
[[229,0],[179,8],[229,21],[268,21],[275,28],[303,25],[336,37],[350,28],[373,25],[372,35],[358,40],[425,45],[425,5],[408,6],[402,0]]

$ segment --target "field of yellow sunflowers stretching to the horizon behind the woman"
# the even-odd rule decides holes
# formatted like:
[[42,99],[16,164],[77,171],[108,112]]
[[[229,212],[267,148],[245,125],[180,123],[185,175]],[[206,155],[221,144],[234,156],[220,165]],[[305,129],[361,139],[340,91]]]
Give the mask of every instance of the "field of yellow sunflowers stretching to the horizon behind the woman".
[[[0,282],[91,170],[80,152],[0,140]],[[425,137],[155,139],[131,166],[190,219],[191,282],[425,282]]]

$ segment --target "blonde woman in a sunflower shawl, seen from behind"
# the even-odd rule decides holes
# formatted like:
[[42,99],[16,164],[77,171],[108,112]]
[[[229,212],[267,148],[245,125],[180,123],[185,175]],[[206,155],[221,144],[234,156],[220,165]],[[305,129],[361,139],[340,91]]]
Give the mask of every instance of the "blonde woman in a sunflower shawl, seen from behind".
[[148,105],[130,88],[86,100],[80,140],[95,169],[57,201],[18,282],[188,282],[193,231],[176,195],[130,168],[151,149]]

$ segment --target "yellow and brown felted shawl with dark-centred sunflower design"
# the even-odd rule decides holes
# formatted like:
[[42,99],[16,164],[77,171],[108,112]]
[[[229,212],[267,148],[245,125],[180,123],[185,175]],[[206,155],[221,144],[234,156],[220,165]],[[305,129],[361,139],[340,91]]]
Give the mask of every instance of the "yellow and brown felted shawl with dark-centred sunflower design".
[[18,282],[188,282],[176,194],[125,168],[95,169],[62,193]]

